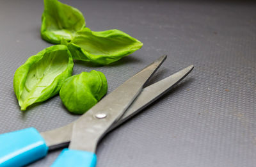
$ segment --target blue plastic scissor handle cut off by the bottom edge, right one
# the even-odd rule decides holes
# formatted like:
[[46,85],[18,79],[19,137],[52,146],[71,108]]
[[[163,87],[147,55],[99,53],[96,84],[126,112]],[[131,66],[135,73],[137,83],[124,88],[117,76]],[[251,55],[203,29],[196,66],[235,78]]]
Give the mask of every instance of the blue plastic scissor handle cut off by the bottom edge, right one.
[[92,152],[65,148],[51,167],[95,167],[97,156]]

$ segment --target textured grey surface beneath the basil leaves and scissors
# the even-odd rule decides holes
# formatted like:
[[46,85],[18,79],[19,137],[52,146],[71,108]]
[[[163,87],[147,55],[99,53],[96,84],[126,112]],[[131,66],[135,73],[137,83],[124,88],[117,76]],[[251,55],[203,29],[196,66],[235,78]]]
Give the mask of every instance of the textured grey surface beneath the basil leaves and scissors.
[[[100,70],[109,92],[162,54],[151,83],[194,64],[173,91],[99,144],[98,167],[256,166],[256,5],[232,1],[65,1],[94,31],[121,29],[144,43],[108,67],[76,61],[74,74]],[[0,133],[46,131],[76,120],[60,97],[22,113],[13,74],[50,46],[40,38],[43,1],[0,1]],[[0,146],[1,147],[1,146]],[[30,166],[49,166],[60,151]]]

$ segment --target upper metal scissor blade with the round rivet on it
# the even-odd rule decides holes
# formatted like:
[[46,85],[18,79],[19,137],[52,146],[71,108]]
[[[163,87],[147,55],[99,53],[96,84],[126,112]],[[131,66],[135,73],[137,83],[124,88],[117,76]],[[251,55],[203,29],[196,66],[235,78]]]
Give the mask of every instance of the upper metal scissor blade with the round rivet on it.
[[[72,136],[68,148],[95,152],[97,143],[117,122],[133,100],[140,94],[144,84],[160,67],[166,56],[161,56],[125,81],[114,91],[104,97],[73,124]],[[84,142],[85,141],[85,142]]]

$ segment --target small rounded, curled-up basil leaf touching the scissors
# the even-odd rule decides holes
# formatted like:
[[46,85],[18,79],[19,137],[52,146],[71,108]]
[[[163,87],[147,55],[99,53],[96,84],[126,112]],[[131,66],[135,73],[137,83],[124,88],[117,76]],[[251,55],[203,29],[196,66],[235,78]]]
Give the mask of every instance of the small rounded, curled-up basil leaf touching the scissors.
[[69,77],[60,90],[60,99],[68,111],[83,114],[107,93],[108,83],[102,72],[92,70]]

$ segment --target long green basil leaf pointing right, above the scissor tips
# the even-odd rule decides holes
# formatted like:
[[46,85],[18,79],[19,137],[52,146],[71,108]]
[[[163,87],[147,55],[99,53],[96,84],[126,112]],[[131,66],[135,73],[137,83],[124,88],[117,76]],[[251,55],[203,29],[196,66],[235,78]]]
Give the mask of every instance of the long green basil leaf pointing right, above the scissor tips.
[[76,60],[108,65],[137,51],[143,44],[118,29],[96,32],[83,28],[67,45]]

